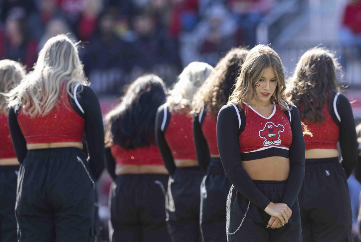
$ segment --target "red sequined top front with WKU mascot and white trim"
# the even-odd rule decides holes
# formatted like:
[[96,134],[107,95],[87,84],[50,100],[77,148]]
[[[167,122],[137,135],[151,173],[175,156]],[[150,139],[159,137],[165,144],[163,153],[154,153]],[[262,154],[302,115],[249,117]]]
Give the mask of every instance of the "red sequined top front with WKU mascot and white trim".
[[[245,104],[242,105],[245,110]],[[249,106],[245,113],[246,125],[239,135],[241,153],[255,152],[267,148],[289,149],[292,143],[290,121],[277,105],[269,117],[264,117]]]

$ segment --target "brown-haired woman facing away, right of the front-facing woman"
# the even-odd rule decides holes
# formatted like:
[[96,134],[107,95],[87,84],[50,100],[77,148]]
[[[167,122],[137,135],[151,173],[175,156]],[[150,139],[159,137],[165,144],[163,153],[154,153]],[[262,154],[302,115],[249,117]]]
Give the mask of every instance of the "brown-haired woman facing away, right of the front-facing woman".
[[306,174],[298,196],[303,241],[352,241],[347,178],[357,162],[357,141],[351,105],[339,92],[336,70],[340,66],[334,55],[316,47],[301,56],[289,80],[301,120],[313,133],[305,136]]

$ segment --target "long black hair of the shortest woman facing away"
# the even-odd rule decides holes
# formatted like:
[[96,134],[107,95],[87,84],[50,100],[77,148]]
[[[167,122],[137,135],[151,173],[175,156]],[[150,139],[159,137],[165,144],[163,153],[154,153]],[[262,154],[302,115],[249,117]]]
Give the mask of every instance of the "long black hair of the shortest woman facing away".
[[134,149],[156,144],[155,118],[165,98],[165,85],[156,75],[136,79],[121,103],[105,117],[105,147],[117,143],[125,149]]

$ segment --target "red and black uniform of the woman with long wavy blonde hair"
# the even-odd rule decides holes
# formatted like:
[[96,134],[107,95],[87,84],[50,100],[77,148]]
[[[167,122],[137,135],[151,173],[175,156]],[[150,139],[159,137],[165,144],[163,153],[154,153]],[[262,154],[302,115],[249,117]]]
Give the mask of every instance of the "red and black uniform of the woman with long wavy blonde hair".
[[[83,86],[72,99],[64,86],[57,106],[44,116],[31,118],[21,107],[9,109],[10,133],[21,163],[15,208],[19,241],[94,239],[95,181],[104,167],[100,105],[90,87]],[[73,147],[26,149],[34,143],[83,142],[84,133],[88,159]]]

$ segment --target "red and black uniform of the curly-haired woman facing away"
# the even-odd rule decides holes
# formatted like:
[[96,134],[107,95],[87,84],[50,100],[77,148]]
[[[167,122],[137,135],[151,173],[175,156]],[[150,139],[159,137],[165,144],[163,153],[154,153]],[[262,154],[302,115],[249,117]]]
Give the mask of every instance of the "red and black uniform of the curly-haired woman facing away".
[[201,183],[200,225],[203,241],[226,242],[226,201],[231,182],[226,177],[217,147],[217,116],[205,111],[193,116],[193,134]]

